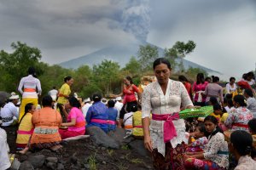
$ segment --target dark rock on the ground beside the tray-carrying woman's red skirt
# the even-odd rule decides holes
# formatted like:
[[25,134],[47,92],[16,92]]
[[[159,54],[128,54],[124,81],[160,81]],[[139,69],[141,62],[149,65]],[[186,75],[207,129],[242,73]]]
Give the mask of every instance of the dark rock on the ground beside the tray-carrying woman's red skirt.
[[131,148],[131,150],[136,151],[141,156],[148,156],[151,157],[150,152],[145,149],[144,142],[141,139],[136,139],[128,144]]

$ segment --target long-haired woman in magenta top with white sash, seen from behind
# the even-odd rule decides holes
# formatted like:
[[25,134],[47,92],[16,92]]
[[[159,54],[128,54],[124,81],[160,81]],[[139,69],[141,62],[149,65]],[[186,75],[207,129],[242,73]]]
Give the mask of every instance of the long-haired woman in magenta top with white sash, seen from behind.
[[203,95],[205,89],[207,88],[208,82],[205,81],[203,73],[198,73],[196,76],[196,82],[193,84],[192,92],[195,94],[195,105],[206,105],[206,97]]

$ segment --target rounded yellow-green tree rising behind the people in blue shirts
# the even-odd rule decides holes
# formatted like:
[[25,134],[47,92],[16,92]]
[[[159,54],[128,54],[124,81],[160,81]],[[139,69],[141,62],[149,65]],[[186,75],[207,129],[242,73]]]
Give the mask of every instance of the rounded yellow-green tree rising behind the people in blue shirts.
[[93,65],[94,83],[98,84],[103,94],[112,94],[112,84],[119,80],[119,64],[104,59],[100,65]]

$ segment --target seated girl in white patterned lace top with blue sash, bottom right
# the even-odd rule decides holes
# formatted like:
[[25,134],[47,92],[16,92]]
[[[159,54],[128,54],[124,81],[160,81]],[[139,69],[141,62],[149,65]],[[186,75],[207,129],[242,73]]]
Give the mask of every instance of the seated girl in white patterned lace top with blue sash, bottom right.
[[208,136],[208,144],[202,152],[185,155],[185,167],[188,169],[228,169],[228,144],[224,134],[218,127],[218,120],[214,116],[207,116],[204,120]]

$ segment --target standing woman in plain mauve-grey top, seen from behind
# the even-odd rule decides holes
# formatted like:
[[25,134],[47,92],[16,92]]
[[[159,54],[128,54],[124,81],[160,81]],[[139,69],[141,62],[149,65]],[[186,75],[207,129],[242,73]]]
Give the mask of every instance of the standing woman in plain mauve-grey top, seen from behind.
[[223,88],[218,85],[218,82],[219,78],[212,76],[212,83],[207,85],[204,93],[207,96],[206,103],[209,102],[211,97],[215,97],[221,102],[222,105],[224,105]]

